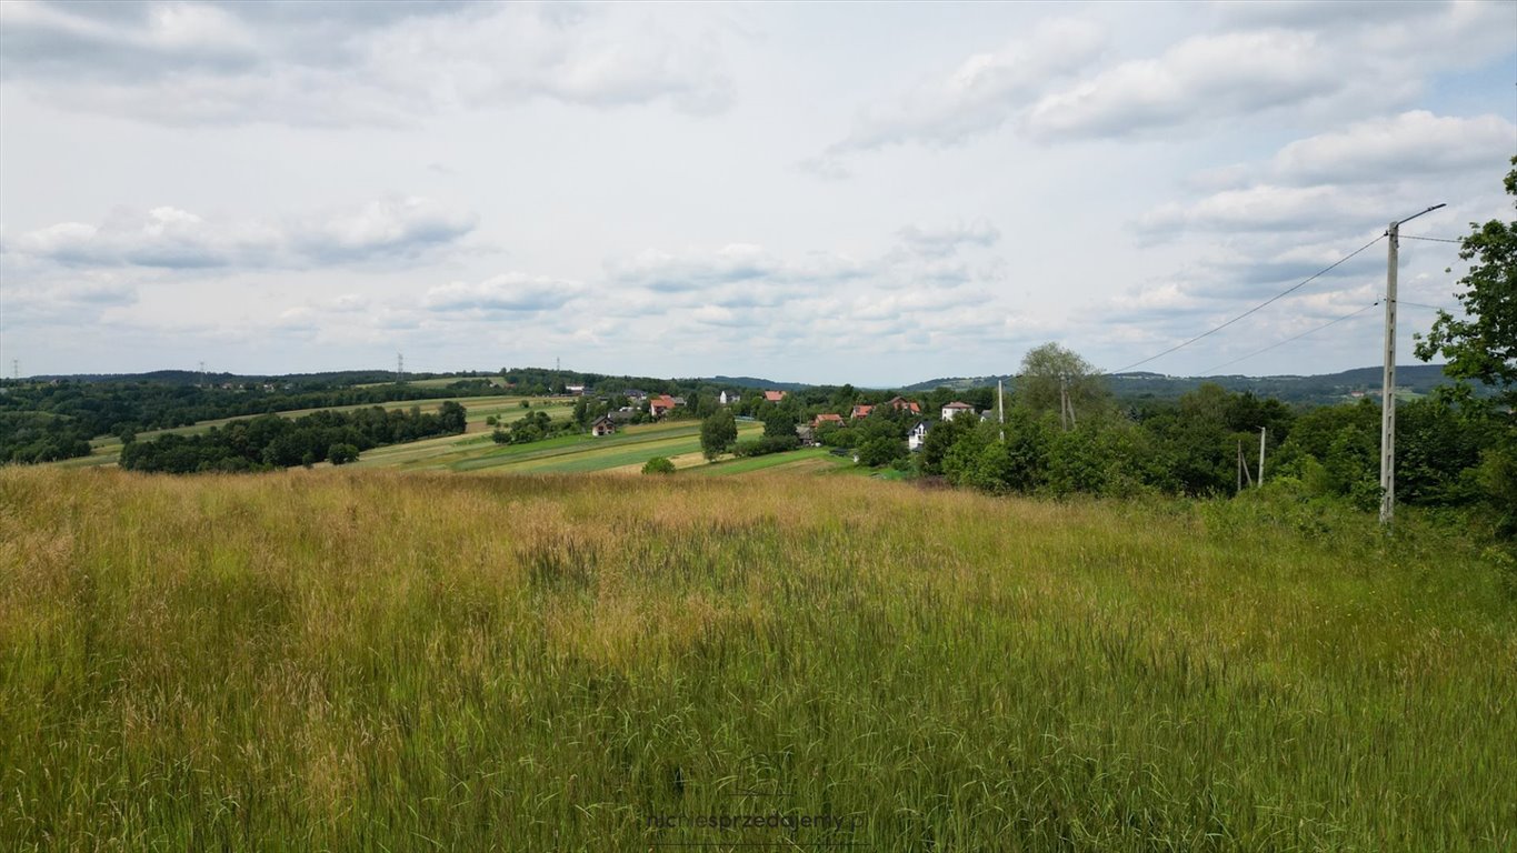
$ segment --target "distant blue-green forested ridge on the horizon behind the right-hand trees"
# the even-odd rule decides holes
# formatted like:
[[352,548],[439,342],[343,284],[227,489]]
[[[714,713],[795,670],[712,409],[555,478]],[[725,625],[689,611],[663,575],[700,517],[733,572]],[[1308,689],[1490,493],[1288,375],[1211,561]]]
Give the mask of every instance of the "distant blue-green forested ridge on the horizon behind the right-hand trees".
[[[1340,373],[1318,376],[1165,376],[1162,373],[1130,371],[1109,374],[1106,379],[1118,397],[1179,397],[1194,391],[1203,382],[1214,382],[1229,391],[1253,391],[1261,397],[1276,397],[1289,403],[1333,403],[1355,395],[1374,395],[1380,392],[1379,367],[1359,367]],[[965,391],[969,388],[994,386],[995,382],[1006,380],[1007,386],[1015,383],[1015,376],[956,376],[945,379],[930,379],[907,385],[904,391],[933,391],[934,388],[953,388]],[[1408,364],[1396,368],[1396,386],[1403,392],[1431,394],[1440,385],[1452,385],[1453,380],[1444,376],[1443,365]],[[1481,391],[1481,386],[1476,386]]]

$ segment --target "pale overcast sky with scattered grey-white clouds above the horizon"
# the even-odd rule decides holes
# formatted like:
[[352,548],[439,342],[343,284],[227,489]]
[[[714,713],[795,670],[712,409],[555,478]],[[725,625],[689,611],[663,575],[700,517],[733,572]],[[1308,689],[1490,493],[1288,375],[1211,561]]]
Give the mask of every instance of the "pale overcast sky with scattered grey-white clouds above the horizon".
[[1517,2],[6,0],[0,368],[1329,373],[1384,239],[1151,356],[1514,155]]

